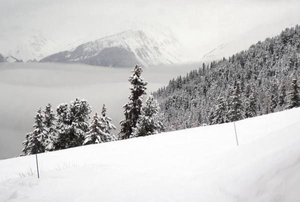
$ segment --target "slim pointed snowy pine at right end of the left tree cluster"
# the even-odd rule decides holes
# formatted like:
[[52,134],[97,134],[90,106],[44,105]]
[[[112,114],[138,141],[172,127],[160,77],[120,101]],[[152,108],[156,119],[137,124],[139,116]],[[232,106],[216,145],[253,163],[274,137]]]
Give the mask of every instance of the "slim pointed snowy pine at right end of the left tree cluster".
[[103,129],[101,129],[103,131],[103,137],[102,137],[102,142],[110,142],[110,141],[115,141],[116,137],[114,136],[114,134],[112,133],[112,129],[115,130],[116,127],[110,123],[111,118],[109,118],[106,115],[106,106],[105,104],[103,104],[102,106],[102,111],[101,111],[101,117],[100,120],[103,123]]

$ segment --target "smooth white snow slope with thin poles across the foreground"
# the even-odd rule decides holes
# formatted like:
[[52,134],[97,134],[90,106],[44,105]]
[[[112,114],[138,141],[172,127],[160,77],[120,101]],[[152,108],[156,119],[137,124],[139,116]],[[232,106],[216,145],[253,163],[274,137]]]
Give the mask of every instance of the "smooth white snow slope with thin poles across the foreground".
[[300,108],[235,125],[2,160],[0,202],[298,202]]

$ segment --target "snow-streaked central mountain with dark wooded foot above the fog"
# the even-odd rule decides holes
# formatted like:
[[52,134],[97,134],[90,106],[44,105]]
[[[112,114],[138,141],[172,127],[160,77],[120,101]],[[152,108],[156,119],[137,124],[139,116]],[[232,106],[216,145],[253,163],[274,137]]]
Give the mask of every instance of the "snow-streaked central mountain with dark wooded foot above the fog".
[[181,62],[181,49],[181,44],[169,30],[129,29],[49,55],[40,62],[79,62],[113,67],[139,63],[153,66]]

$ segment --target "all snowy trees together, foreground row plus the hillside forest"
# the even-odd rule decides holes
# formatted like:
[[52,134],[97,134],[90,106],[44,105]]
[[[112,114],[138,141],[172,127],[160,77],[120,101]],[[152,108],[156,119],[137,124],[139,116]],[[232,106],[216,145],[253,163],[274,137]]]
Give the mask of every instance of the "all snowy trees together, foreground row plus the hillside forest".
[[89,120],[91,107],[86,100],[59,104],[56,113],[48,104],[37,110],[34,130],[22,143],[22,155],[234,122],[298,107],[299,67],[298,25],[228,59],[203,63],[198,70],[170,80],[146,100],[147,82],[136,65],[128,78],[129,100],[117,134],[105,105]]

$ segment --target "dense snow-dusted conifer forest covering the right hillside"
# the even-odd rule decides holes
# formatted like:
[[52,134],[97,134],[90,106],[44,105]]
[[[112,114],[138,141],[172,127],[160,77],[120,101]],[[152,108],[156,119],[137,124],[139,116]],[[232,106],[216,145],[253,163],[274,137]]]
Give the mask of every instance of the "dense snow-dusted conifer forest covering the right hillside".
[[258,41],[152,93],[166,130],[232,122],[290,109],[299,103],[300,26]]

